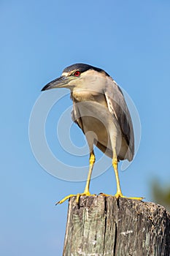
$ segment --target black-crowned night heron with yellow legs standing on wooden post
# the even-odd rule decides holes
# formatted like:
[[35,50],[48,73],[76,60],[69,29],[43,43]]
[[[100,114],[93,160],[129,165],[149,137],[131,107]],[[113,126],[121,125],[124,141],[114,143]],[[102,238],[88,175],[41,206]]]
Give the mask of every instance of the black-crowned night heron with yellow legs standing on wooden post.
[[[81,195],[90,195],[90,177],[95,162],[93,145],[112,158],[117,182],[115,197],[125,197],[120,189],[117,162],[133,159],[134,129],[120,87],[103,69],[88,64],[73,64],[63,69],[61,77],[47,83],[42,91],[55,88],[70,89],[72,119],[84,132],[90,149],[88,180],[85,191],[77,194],[77,201]],[[58,203],[72,196],[68,195]],[[143,197],[129,198],[142,200]]]

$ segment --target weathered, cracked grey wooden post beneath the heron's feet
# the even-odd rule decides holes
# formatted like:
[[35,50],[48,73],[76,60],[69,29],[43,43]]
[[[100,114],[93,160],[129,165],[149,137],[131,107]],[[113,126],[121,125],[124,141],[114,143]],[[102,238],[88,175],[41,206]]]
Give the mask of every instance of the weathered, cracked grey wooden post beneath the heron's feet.
[[127,198],[69,200],[63,256],[169,256],[170,214]]

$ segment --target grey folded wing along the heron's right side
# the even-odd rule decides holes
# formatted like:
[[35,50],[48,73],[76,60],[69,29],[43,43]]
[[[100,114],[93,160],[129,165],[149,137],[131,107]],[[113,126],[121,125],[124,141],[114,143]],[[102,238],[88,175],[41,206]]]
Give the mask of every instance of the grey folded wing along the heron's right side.
[[120,87],[112,78],[107,78],[107,85],[104,89],[104,94],[107,100],[107,106],[109,112],[115,115],[123,137],[130,150],[130,156],[128,157],[131,161],[134,157],[134,129],[131,121],[131,115],[128,110],[128,106],[125,103],[125,98]]

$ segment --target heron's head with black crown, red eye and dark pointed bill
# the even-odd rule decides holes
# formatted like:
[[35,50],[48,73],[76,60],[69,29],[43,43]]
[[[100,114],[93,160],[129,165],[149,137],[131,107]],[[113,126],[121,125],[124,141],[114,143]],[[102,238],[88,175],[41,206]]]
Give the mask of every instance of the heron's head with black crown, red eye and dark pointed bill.
[[103,69],[88,64],[73,64],[63,69],[61,77],[47,83],[42,88],[42,91],[55,88],[69,88],[72,90],[75,87],[86,89],[86,86],[89,84],[88,81],[90,80],[90,83],[93,83],[93,80],[96,80],[98,74],[108,76],[107,72],[104,72]]

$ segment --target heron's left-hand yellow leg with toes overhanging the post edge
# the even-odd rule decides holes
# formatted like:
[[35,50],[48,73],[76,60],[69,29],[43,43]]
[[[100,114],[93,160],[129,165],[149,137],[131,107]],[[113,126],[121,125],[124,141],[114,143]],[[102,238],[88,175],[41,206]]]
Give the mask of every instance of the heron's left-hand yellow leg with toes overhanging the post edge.
[[[62,200],[60,200],[58,202],[59,204],[63,203],[64,201],[66,201],[70,197],[74,197],[74,196],[77,196],[76,201],[78,203],[81,195],[90,195],[90,192],[89,192],[90,178],[91,178],[91,173],[92,173],[92,170],[93,170],[93,165],[94,165],[94,162],[95,162],[95,155],[94,155],[93,151],[90,153],[89,162],[90,162],[90,165],[89,165],[89,171],[88,171],[88,179],[87,179],[87,182],[86,182],[86,185],[85,185],[85,191],[83,193],[80,193],[80,194],[77,194],[77,195],[67,195],[66,197],[64,197]],[[58,203],[56,203],[56,205]]]

